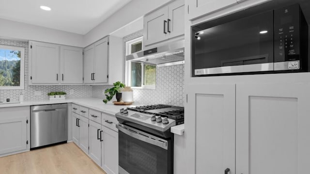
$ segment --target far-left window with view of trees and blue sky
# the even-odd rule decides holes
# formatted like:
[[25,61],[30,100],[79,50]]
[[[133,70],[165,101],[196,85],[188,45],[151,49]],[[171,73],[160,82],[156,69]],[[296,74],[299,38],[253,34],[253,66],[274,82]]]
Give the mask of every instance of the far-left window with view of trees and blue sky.
[[25,47],[0,45],[0,89],[24,89]]

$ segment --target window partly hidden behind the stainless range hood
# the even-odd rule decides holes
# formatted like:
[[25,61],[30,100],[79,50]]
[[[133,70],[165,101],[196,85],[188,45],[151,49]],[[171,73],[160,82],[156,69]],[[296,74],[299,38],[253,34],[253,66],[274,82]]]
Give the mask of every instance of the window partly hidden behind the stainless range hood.
[[[142,50],[142,37],[126,42],[126,55]],[[156,65],[126,62],[125,83],[133,88],[151,88],[156,85]]]

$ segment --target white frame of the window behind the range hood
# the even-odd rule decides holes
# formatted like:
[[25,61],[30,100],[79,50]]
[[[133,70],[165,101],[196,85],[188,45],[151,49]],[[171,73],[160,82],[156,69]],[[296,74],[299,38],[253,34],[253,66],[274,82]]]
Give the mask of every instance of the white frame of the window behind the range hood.
[[[131,45],[134,43],[140,42],[140,41],[142,42],[142,47],[143,47],[143,36],[125,42],[125,56],[131,54]],[[126,86],[131,86],[131,62],[135,62],[135,61],[125,60],[125,84]],[[155,89],[156,88],[156,85],[144,85],[144,64],[146,63],[141,63],[141,87],[131,86],[131,88],[133,89]],[[150,65],[153,65],[153,64],[150,64]],[[157,71],[157,67],[156,67],[156,71]]]

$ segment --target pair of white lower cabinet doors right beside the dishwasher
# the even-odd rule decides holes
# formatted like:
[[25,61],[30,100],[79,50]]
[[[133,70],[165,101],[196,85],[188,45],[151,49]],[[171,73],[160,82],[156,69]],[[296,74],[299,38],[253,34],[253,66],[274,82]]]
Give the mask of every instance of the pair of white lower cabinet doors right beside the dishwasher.
[[72,140],[88,154],[88,118],[72,112]]

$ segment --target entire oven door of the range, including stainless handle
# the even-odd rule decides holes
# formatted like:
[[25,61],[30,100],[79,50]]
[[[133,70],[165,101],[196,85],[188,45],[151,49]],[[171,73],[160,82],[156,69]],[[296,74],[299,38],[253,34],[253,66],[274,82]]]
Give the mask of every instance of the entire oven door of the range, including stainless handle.
[[171,139],[162,139],[122,124],[119,129],[119,174],[172,174]]

